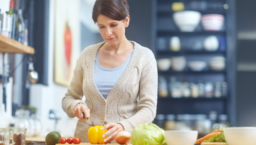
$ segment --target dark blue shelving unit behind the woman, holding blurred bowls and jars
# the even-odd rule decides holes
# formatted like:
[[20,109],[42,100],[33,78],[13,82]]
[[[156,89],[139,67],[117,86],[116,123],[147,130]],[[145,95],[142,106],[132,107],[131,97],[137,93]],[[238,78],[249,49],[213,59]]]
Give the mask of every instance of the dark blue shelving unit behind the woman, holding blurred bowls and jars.
[[[209,9],[209,6],[207,7],[207,10],[194,10],[199,11],[202,15],[203,14],[222,14],[225,17],[224,27],[219,32],[209,32],[205,31],[202,28],[201,23],[198,25],[198,27],[195,29],[194,32],[181,32],[179,31],[178,27],[174,24],[172,15],[174,11],[172,11],[172,3],[173,2],[183,2],[184,3],[184,10],[191,10],[189,8],[190,2],[206,2],[209,5],[216,5],[216,10],[213,10],[213,8]],[[158,70],[158,76],[163,76],[166,78],[167,81],[169,81],[169,78],[171,76],[178,76],[179,78],[182,78],[182,81],[188,81],[188,82],[194,82],[197,83],[198,78],[202,78],[203,81],[214,81],[215,84],[217,81],[225,81],[229,85],[228,78],[227,78],[227,41],[222,44],[226,45],[224,49],[217,51],[206,51],[205,49],[202,50],[193,50],[189,44],[189,41],[195,40],[195,38],[206,38],[210,35],[215,35],[216,37],[224,37],[226,38],[227,35],[227,16],[226,12],[223,7],[220,8],[218,6],[223,6],[226,4],[226,0],[157,0],[155,6],[155,16],[156,16],[156,30],[155,30],[155,56],[156,59],[160,58],[169,58],[173,56],[184,56],[187,58],[188,61],[195,61],[197,59],[204,60],[206,62],[209,61],[209,58],[214,56],[223,56],[226,58],[226,69],[221,71],[216,70],[210,70],[209,68],[206,68],[202,72],[194,72],[188,69],[187,67],[181,71],[176,72],[171,69],[167,71],[160,71]],[[178,52],[171,51],[169,49],[169,40],[173,36],[178,36],[181,40],[181,50]],[[159,49],[158,47],[158,38],[164,38],[165,39],[165,49]],[[190,40],[192,39],[192,40]],[[203,42],[202,42],[203,43]],[[222,46],[223,47],[223,46]],[[181,82],[182,82],[181,81]],[[172,98],[170,94],[168,97],[159,97],[158,96],[158,105],[157,105],[157,114],[206,114],[210,111],[216,111],[218,114],[227,114],[229,115],[228,105],[229,105],[229,91],[227,96],[221,96],[221,97],[212,97],[212,98],[206,98],[206,97],[182,97],[182,98]],[[168,90],[169,92],[169,90]],[[158,93],[159,94],[159,93]]]

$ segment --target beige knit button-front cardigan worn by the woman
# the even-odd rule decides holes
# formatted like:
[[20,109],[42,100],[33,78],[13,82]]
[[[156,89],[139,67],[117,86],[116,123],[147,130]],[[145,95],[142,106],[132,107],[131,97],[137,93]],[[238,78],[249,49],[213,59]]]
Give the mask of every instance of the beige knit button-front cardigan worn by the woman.
[[[98,49],[105,42],[85,48],[74,69],[74,76],[62,99],[62,109],[71,118],[78,103],[83,103],[91,110],[90,118],[95,125],[110,122],[122,124],[130,133],[142,123],[154,120],[157,109],[157,64],[152,51],[138,43],[134,44],[131,60],[109,92],[107,99],[100,94],[94,83],[94,60]],[[82,97],[85,96],[85,102]],[[75,137],[88,142],[90,126],[79,120]]]

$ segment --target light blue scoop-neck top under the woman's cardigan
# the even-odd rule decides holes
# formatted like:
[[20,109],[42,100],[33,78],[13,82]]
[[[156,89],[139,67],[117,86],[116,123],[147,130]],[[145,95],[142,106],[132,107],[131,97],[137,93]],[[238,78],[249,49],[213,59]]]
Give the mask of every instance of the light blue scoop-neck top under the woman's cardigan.
[[117,83],[118,79],[128,66],[133,51],[122,65],[114,69],[105,69],[101,67],[101,65],[99,64],[99,50],[97,51],[94,61],[94,83],[96,84],[96,87],[105,99],[107,98],[110,90],[113,88],[115,83]]

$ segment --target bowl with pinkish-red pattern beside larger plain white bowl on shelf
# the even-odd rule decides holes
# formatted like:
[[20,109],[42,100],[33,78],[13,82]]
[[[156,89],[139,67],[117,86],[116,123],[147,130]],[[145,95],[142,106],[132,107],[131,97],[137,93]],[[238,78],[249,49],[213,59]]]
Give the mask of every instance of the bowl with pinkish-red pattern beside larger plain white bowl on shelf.
[[205,14],[201,18],[201,24],[206,31],[220,31],[224,23],[224,16],[221,14]]

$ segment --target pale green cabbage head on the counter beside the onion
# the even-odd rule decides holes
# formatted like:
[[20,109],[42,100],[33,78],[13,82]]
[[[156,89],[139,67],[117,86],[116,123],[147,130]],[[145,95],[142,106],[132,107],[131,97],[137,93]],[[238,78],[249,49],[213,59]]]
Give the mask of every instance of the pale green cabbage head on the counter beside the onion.
[[154,123],[139,124],[131,132],[133,145],[166,145],[165,132]]

